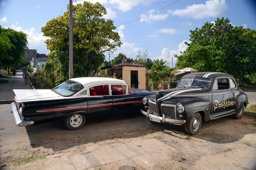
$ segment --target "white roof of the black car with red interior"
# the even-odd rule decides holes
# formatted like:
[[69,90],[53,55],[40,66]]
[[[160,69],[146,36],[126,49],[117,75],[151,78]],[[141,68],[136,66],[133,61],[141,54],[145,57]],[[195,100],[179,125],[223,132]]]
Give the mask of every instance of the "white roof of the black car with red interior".
[[92,85],[99,85],[99,84],[126,84],[124,80],[120,79],[113,79],[108,77],[79,77],[70,79],[72,81],[76,81],[81,83],[84,87],[89,87]]

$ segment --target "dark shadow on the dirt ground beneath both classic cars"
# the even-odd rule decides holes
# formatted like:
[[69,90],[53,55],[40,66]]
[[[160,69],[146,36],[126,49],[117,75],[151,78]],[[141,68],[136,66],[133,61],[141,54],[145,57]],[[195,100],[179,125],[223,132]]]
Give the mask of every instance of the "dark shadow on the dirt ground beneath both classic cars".
[[[235,120],[230,117],[203,122],[200,132],[193,138],[214,143],[236,142],[246,134],[256,133],[252,119],[244,116]],[[53,151],[66,150],[87,143],[97,143],[109,139],[136,138],[162,131],[165,134],[183,140],[194,140],[186,136],[183,126],[168,123],[153,125],[145,116],[118,116],[90,120],[79,130],[67,130],[63,122],[26,127],[30,144],[33,148],[51,148]],[[168,131],[171,131],[168,132]],[[180,135],[181,133],[181,135]]]

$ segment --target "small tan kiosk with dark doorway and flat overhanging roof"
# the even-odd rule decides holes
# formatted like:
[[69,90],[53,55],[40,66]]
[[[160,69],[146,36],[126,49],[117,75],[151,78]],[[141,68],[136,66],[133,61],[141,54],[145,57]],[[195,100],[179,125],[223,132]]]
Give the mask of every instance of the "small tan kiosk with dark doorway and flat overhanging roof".
[[124,80],[132,88],[146,89],[146,68],[143,65],[132,62],[124,62],[118,65],[108,65],[101,70],[108,69],[108,76]]

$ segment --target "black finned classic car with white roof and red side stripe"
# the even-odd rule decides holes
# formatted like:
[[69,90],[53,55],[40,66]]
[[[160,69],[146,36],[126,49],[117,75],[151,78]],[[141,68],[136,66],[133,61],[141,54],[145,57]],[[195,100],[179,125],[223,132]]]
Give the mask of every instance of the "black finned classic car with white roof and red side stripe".
[[51,90],[13,91],[12,113],[18,126],[64,119],[70,130],[81,128],[90,118],[139,112],[143,97],[155,94],[102,77],[70,79]]

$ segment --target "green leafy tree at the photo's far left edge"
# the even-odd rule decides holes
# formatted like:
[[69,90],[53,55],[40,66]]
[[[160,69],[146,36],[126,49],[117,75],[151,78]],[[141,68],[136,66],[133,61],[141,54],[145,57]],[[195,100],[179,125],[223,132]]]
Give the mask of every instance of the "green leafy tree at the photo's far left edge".
[[[25,49],[27,48],[26,34],[11,28],[0,26],[0,65],[4,67],[18,67],[23,64]],[[9,69],[8,69],[9,71]]]

